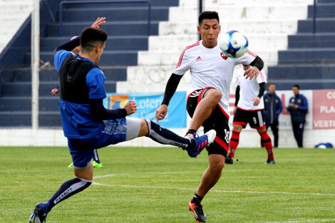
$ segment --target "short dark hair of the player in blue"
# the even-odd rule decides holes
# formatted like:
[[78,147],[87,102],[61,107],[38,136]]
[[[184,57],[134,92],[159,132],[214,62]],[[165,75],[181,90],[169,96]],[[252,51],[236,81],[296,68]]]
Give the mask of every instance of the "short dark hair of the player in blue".
[[105,43],[107,36],[108,34],[100,28],[87,27],[81,33],[81,49],[93,51],[98,44]]

